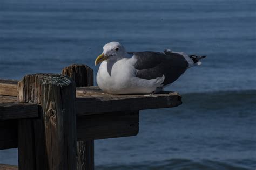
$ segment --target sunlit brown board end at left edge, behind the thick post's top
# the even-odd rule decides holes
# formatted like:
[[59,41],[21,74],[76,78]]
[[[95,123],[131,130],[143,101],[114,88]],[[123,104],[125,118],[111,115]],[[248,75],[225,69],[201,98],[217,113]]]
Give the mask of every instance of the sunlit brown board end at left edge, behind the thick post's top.
[[0,95],[17,96],[17,80],[0,79]]

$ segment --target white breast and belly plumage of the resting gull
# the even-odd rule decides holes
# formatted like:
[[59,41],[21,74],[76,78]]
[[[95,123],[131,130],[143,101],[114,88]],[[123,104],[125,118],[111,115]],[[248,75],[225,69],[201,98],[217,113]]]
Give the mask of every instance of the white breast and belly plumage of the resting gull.
[[100,64],[97,73],[97,84],[100,89],[113,94],[152,93],[161,86],[164,76],[157,79],[140,79],[136,77],[134,58],[123,58],[114,63],[111,76],[107,72],[107,61]]

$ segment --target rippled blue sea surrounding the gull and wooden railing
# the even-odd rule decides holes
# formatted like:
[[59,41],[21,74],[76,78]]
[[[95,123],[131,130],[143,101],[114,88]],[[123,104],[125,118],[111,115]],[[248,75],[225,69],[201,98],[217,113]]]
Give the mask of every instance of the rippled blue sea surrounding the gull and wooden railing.
[[[139,134],[95,141],[96,169],[256,168],[256,1],[0,1],[0,77],[95,70],[104,44],[207,55],[165,90],[176,108],[140,111]],[[17,149],[0,163],[18,164]]]

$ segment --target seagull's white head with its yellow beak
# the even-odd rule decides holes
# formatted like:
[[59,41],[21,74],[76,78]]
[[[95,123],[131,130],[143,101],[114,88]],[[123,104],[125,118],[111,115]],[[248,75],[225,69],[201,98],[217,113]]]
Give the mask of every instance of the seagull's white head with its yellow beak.
[[119,42],[109,42],[104,45],[103,53],[95,60],[95,66],[109,58],[123,58],[126,56],[125,48]]

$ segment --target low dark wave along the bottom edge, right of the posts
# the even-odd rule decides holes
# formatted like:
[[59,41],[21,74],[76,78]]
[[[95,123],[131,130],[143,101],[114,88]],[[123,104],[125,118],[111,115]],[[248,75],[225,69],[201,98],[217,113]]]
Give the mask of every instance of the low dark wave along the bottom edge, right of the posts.
[[235,162],[220,162],[212,160],[193,161],[189,159],[171,159],[160,162],[143,162],[140,164],[111,164],[96,166],[98,170],[247,170],[251,167],[245,165],[237,165]]

